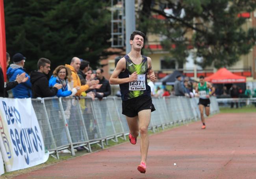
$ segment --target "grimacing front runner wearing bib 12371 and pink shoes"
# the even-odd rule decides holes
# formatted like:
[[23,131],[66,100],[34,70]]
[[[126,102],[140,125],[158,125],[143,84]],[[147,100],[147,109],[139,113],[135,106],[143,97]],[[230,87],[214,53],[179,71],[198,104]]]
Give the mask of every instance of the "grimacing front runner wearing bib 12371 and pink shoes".
[[145,34],[134,31],[130,36],[131,52],[122,57],[109,79],[111,85],[120,86],[122,97],[122,114],[130,129],[129,140],[136,144],[137,137],[141,136],[141,163],[137,167],[139,172],[146,172],[148,154],[148,125],[151,112],[155,111],[151,99],[151,90],[147,85],[147,78],[156,81],[151,66],[150,57],[141,55],[145,41]]

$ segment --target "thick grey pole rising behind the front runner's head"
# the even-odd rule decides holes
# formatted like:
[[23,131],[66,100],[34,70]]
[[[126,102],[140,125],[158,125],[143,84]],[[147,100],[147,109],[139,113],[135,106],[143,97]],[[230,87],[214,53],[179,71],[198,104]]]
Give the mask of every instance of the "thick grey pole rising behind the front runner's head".
[[125,0],[126,54],[131,51],[130,35],[135,31],[135,0]]

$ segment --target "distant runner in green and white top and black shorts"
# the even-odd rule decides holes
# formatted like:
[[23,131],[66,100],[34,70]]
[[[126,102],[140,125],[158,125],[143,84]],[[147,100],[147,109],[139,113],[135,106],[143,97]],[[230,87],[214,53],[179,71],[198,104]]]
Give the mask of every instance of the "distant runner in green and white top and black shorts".
[[210,93],[209,89],[211,89],[211,94],[214,93],[215,88],[208,82],[204,81],[204,76],[199,77],[199,83],[196,87],[196,92],[199,94],[199,110],[201,115],[202,121],[202,129],[205,129],[205,121],[204,121],[204,107],[205,107],[205,114],[209,116],[210,114]]

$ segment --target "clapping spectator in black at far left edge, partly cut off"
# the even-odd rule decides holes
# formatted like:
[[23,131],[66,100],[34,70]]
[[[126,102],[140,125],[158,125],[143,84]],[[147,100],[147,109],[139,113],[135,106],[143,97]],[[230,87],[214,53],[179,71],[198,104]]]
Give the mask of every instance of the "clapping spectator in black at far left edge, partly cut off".
[[[8,53],[6,53],[6,66],[9,65],[10,62],[10,55]],[[2,66],[0,66],[0,97],[4,97],[4,98],[8,98],[8,93],[7,91],[10,89],[13,89],[14,87],[16,87],[17,85],[19,85],[20,83],[25,83],[28,80],[28,77],[25,77],[26,74],[22,73],[22,74],[18,74],[16,76],[15,81],[11,81],[6,83],[6,87],[4,87],[4,73],[2,70]]]

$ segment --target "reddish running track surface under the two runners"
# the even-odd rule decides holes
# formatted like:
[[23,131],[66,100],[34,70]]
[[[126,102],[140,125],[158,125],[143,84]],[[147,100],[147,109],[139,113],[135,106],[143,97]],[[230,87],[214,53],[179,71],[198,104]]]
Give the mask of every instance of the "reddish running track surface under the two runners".
[[[254,179],[256,113],[217,114],[150,136],[147,172],[137,171],[139,140],[76,157],[18,179]],[[174,166],[176,163],[176,166]]]

